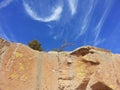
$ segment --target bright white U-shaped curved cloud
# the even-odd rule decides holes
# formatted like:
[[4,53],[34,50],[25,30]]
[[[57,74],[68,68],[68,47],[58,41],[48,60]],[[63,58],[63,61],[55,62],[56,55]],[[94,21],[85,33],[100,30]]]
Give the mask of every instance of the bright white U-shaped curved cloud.
[[43,21],[43,22],[57,21],[60,19],[62,13],[62,6],[57,6],[55,9],[53,9],[52,15],[42,18],[37,14],[37,12],[32,10],[32,7],[30,7],[27,3],[24,2],[23,4],[26,12],[31,16],[31,18],[38,21]]

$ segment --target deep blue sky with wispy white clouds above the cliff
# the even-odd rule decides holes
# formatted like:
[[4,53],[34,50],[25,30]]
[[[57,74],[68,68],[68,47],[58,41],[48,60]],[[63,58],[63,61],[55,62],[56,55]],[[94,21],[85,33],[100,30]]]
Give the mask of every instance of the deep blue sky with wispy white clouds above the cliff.
[[120,53],[120,0],[0,0],[0,37],[44,50],[66,39],[74,50],[92,45]]

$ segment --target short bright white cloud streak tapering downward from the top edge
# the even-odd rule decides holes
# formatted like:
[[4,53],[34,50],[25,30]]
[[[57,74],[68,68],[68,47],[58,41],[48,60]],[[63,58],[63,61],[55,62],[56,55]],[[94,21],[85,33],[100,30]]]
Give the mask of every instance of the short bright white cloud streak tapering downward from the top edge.
[[78,0],[68,0],[68,3],[71,9],[71,14],[74,15],[76,13]]

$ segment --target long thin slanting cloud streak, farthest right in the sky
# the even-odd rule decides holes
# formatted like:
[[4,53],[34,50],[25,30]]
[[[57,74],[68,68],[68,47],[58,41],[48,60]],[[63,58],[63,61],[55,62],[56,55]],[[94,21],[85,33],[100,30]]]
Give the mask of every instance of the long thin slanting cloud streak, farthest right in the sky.
[[97,45],[96,43],[98,42],[98,38],[99,38],[99,34],[101,32],[101,28],[106,20],[106,17],[108,16],[110,9],[112,7],[113,4],[113,0],[106,0],[105,2],[105,8],[104,8],[104,12],[103,15],[100,19],[100,21],[98,22],[97,26],[95,27],[95,40],[94,40],[94,45]]

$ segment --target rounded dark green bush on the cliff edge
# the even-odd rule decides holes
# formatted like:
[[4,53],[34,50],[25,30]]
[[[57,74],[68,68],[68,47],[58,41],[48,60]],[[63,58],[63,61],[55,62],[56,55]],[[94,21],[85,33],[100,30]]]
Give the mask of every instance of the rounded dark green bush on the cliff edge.
[[28,43],[28,46],[34,50],[43,51],[43,49],[41,48],[41,43],[38,40],[32,40]]

